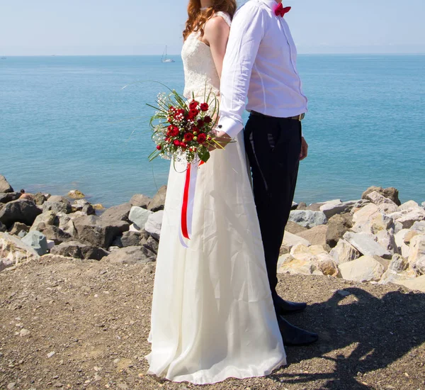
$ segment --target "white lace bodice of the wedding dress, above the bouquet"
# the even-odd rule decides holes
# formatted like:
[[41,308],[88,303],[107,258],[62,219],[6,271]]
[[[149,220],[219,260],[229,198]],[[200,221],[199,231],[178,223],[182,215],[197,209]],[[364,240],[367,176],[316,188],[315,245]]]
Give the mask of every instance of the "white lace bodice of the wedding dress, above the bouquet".
[[[230,26],[231,19],[227,13],[217,12],[215,16],[222,17]],[[183,44],[181,57],[184,68],[184,91],[183,95],[191,99],[192,93],[198,98],[205,95],[205,86],[207,94],[212,91],[218,96],[220,91],[220,78],[212,59],[210,46],[203,43],[199,31],[193,31]]]

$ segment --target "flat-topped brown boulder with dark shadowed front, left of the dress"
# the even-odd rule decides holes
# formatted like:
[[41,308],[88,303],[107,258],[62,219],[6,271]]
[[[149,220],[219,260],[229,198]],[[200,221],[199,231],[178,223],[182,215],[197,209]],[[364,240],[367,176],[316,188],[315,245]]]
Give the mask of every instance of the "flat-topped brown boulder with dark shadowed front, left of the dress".
[[81,243],[95,247],[110,247],[113,239],[122,235],[130,226],[128,222],[122,220],[108,221],[108,218],[102,217],[81,216],[74,219],[77,238]]

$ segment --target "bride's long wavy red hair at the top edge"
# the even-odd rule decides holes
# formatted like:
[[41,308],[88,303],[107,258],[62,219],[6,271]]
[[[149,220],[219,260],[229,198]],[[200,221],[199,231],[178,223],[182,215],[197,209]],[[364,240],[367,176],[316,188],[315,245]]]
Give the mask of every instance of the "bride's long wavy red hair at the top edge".
[[186,40],[193,31],[200,31],[200,36],[202,37],[204,34],[203,26],[208,19],[212,18],[214,13],[219,11],[226,12],[230,18],[233,18],[236,9],[236,0],[215,0],[212,6],[205,10],[200,9],[200,0],[189,0],[188,20],[183,31],[183,39]]

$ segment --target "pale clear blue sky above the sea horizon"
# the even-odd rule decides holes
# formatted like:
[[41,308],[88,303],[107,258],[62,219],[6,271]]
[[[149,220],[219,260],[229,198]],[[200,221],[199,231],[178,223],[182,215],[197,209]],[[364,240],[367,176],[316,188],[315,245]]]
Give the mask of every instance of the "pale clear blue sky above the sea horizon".
[[[0,55],[179,54],[186,0],[0,0]],[[425,52],[425,0],[286,0],[300,52]]]

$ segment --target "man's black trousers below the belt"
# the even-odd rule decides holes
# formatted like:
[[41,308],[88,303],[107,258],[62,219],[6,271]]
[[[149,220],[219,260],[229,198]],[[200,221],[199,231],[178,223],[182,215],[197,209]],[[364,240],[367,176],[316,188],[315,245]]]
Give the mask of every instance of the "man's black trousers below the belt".
[[251,165],[254,200],[273,303],[283,233],[288,223],[301,151],[301,122],[251,114],[244,130],[245,148]]

